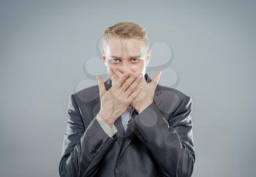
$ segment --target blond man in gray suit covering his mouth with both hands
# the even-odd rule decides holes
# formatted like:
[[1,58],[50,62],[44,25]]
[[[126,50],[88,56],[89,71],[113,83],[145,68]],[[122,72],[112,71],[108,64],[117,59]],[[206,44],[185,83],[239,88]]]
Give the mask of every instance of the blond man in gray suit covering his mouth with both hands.
[[60,176],[192,176],[192,99],[146,74],[148,46],[138,23],[105,30],[110,79],[70,96]]

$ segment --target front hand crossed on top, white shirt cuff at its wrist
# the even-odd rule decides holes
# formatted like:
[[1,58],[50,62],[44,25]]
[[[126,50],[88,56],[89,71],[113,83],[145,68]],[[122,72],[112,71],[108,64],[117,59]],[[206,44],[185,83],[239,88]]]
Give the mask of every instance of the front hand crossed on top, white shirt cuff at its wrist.
[[142,75],[126,72],[108,91],[106,91],[104,81],[100,76],[97,76],[97,80],[101,104],[99,116],[112,127],[116,119],[124,113],[140,93]]

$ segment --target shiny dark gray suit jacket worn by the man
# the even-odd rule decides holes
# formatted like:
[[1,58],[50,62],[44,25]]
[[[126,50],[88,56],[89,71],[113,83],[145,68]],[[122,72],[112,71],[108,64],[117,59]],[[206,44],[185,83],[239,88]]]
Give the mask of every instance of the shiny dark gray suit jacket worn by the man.
[[[151,82],[148,74],[145,78]],[[110,79],[105,81],[106,90],[111,85]],[[192,176],[195,149],[189,96],[157,84],[154,102],[140,114],[132,112],[126,132],[119,117],[113,138],[95,118],[99,109],[98,85],[70,96],[60,176]]]

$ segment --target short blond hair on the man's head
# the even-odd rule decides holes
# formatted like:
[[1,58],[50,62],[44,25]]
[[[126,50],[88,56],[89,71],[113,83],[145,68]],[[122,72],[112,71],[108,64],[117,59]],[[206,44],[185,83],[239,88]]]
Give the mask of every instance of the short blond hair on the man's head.
[[103,34],[102,47],[105,48],[105,44],[112,37],[119,37],[120,39],[140,39],[144,42],[146,49],[149,48],[148,34],[145,28],[139,23],[134,23],[131,21],[119,22],[114,25],[109,26]]

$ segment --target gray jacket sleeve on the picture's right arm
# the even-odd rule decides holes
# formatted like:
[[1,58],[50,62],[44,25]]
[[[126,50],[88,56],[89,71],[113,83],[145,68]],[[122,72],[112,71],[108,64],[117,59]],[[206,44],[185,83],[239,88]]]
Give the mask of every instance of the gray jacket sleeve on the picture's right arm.
[[165,176],[192,176],[195,149],[191,111],[192,99],[186,96],[167,117],[168,122],[154,102],[131,119],[135,135],[147,146]]

